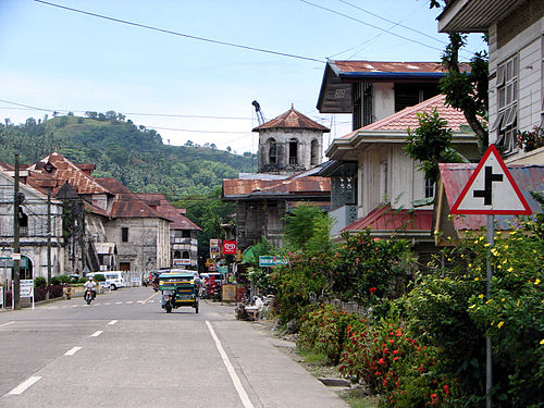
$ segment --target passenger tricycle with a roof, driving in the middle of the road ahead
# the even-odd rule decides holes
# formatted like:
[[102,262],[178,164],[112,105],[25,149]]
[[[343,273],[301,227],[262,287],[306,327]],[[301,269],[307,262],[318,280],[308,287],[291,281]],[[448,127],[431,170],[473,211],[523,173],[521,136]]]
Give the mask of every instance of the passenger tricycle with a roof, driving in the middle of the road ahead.
[[182,306],[190,306],[198,313],[200,279],[191,271],[171,271],[160,275],[161,306],[166,313]]

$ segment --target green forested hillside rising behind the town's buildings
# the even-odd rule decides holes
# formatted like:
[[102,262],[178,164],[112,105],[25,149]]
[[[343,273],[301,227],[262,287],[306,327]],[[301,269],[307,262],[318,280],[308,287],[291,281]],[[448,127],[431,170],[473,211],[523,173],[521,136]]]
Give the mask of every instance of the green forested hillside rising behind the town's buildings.
[[58,151],[75,163],[95,163],[95,176],[115,177],[133,191],[159,191],[171,199],[208,195],[222,178],[252,171],[250,152],[238,156],[213,143],[205,146],[164,145],[154,129],[113,111],[0,124],[0,161],[13,164],[18,152],[22,163],[34,163]]

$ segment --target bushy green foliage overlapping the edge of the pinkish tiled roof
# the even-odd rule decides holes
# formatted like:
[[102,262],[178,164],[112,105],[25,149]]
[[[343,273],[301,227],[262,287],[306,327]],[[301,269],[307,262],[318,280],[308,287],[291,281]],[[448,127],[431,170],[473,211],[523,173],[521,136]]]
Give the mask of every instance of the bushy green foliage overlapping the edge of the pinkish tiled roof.
[[421,163],[419,170],[425,173],[425,178],[436,182],[438,163],[458,163],[461,156],[452,148],[453,131],[447,127],[447,121],[442,119],[436,108],[431,114],[417,113],[419,127],[408,128],[407,145],[403,149]]

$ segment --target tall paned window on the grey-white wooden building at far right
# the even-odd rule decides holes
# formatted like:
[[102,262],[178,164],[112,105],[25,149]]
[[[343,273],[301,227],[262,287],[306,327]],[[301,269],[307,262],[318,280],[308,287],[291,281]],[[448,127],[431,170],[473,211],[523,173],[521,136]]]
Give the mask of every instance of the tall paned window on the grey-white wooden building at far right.
[[497,66],[497,118],[491,131],[496,132],[496,145],[502,146],[505,153],[512,153],[518,149],[518,72],[517,55]]

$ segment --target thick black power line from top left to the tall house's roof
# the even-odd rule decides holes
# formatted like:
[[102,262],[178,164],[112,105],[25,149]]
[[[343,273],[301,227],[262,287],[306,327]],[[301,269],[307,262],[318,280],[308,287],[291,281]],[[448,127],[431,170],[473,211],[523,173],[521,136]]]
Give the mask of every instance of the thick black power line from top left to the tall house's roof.
[[41,3],[41,4],[47,4],[47,5],[51,5],[51,7],[54,7],[54,8],[59,8],[59,9],[72,11],[72,12],[75,12],[75,13],[90,15],[92,17],[109,20],[109,21],[112,21],[112,22],[115,22],[115,23],[132,25],[132,26],[135,26],[135,27],[151,29],[151,30],[159,32],[159,33],[164,33],[164,34],[171,34],[171,35],[174,35],[174,36],[189,38],[189,39],[195,39],[195,40],[198,40],[198,41],[205,41],[205,42],[217,44],[217,45],[220,45],[220,46],[227,46],[227,47],[240,48],[240,49],[249,50],[249,51],[264,52],[264,53],[270,53],[270,54],[280,55],[280,57],[295,58],[295,59],[298,59],[298,60],[322,62],[322,63],[325,62],[323,60],[317,60],[314,58],[309,58],[309,57],[296,55],[296,54],[286,53],[286,52],[271,51],[271,50],[267,50],[267,49],[263,49],[263,48],[244,46],[244,45],[234,44],[234,42],[219,41],[219,40],[214,40],[214,39],[210,39],[210,38],[193,36],[193,35],[189,35],[189,34],[172,32],[170,29],[158,28],[158,27],[153,27],[153,26],[150,26],[150,25],[134,23],[134,22],[131,22],[131,21],[127,21],[127,20],[114,18],[114,17],[110,17],[110,16],[107,16],[107,15],[103,15],[103,14],[90,13],[90,12],[84,11],[84,10],[72,9],[72,8],[67,8],[65,5],[50,3],[50,2],[44,1],[44,0],[34,0],[34,1],[36,1],[38,3]]

